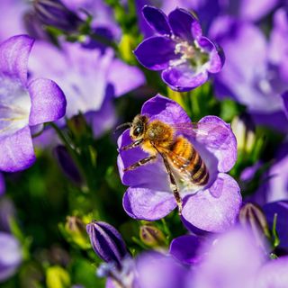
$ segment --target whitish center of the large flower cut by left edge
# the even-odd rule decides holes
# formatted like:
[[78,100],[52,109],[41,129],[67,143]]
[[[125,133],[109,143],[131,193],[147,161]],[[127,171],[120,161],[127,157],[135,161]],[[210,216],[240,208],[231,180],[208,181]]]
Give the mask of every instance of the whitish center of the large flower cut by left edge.
[[29,124],[30,96],[16,80],[0,76],[0,139]]

